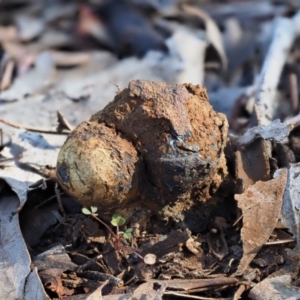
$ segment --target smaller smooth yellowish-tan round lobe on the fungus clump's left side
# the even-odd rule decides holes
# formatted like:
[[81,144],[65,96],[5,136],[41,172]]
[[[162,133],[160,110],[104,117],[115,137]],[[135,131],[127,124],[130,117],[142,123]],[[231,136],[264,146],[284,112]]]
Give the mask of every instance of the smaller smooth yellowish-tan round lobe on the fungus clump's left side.
[[57,172],[67,192],[82,205],[110,213],[135,200],[140,164],[133,145],[113,129],[83,122],[62,147]]

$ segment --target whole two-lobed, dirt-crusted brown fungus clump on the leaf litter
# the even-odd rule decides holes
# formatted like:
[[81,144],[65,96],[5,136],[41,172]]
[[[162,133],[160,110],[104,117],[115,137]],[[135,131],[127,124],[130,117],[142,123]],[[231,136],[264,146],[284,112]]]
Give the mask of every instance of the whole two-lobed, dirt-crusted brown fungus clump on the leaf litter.
[[224,180],[227,128],[200,86],[132,81],[70,135],[58,178],[103,213],[178,199],[182,210],[183,200],[205,201]]

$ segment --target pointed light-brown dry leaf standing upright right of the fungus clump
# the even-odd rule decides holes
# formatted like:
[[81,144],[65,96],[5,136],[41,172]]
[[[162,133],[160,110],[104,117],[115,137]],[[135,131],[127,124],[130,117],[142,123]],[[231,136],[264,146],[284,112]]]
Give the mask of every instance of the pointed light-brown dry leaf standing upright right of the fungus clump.
[[243,257],[237,273],[243,273],[275,228],[280,216],[282,197],[287,180],[287,170],[282,169],[277,178],[249,186],[241,195],[235,195],[243,214]]

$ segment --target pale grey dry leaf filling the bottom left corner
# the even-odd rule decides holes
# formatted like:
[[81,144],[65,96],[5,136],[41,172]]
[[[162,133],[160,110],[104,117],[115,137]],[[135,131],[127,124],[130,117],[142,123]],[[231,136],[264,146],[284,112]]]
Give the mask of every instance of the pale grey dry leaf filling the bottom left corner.
[[[18,215],[12,215],[18,203],[16,196],[2,197],[0,201],[1,299],[49,299],[35,276],[35,271],[30,269],[31,260],[22,237]],[[34,298],[30,297],[33,295],[32,290]]]

